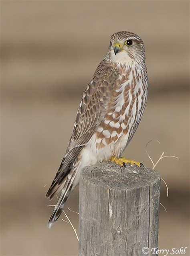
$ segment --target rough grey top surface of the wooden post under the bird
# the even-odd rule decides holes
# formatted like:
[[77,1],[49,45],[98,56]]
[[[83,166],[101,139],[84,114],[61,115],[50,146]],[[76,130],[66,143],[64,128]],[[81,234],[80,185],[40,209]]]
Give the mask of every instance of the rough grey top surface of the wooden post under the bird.
[[128,164],[121,167],[113,162],[106,161],[83,168],[81,178],[98,186],[130,189],[150,186],[150,184],[160,180],[160,174],[147,167],[142,168]]

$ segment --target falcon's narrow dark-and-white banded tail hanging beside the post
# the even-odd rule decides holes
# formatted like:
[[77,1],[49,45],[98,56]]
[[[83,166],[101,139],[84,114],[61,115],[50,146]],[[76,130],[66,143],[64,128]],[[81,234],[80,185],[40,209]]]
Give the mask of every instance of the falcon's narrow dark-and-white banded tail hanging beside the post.
[[65,186],[61,192],[61,196],[59,197],[59,200],[57,201],[57,204],[53,210],[53,213],[51,214],[51,216],[49,218],[48,225],[47,225],[49,228],[51,228],[53,226],[55,221],[57,221],[57,219],[61,215],[63,207],[64,207],[69,195],[71,194],[71,192],[73,190],[72,187],[73,187],[73,185],[67,179],[65,182]]

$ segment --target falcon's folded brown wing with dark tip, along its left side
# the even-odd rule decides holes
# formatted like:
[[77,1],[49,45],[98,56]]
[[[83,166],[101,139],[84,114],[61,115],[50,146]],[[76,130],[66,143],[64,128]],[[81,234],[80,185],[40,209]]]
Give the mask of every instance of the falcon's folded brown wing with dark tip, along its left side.
[[65,177],[69,174],[77,155],[87,145],[96,127],[103,120],[110,92],[117,77],[118,70],[108,66],[105,61],[102,61],[97,67],[81,98],[66,154],[46,197],[51,199],[62,189]]

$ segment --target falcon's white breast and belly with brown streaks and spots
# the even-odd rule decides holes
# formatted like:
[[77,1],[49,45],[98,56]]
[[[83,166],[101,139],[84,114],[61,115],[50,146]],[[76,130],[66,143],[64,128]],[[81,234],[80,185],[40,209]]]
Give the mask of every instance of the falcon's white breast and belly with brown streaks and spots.
[[142,76],[134,70],[121,74],[111,92],[105,117],[95,132],[96,148],[113,144],[117,148],[115,154],[120,154],[137,129],[146,100],[147,84]]

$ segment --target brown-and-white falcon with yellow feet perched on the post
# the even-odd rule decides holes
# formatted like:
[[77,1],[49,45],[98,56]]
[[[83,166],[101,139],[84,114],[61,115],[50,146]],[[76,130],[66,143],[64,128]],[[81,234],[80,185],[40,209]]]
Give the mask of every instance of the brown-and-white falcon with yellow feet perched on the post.
[[128,31],[111,35],[108,51],[82,95],[65,156],[46,194],[51,200],[61,192],[49,228],[61,215],[85,166],[105,160],[120,166],[142,166],[121,154],[145,110],[148,96],[145,59],[141,37]]

